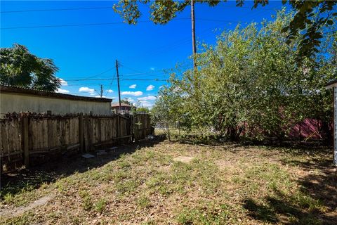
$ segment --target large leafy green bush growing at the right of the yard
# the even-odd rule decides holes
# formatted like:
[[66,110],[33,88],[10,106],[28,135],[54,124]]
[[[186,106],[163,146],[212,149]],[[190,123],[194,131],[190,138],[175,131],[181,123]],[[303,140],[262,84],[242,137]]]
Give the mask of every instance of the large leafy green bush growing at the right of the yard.
[[305,117],[329,122],[331,92],[324,84],[336,77],[336,34],[326,37],[321,54],[298,62],[301,35],[286,44],[282,32],[291,18],[280,11],[260,29],[255,23],[237,26],[216,46],[204,44],[198,70],[185,71],[182,79],[172,75],[160,91],[154,118],[180,120],[187,129],[207,127],[231,139],[244,128],[254,138],[283,138]]

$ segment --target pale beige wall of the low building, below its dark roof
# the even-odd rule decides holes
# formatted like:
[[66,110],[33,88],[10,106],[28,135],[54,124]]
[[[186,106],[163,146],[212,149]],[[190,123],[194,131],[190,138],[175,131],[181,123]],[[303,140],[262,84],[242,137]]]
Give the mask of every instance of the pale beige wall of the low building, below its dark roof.
[[62,98],[29,96],[26,94],[0,94],[1,117],[6,113],[35,112],[65,115],[70,113],[90,113],[94,115],[110,115],[110,102],[79,101]]

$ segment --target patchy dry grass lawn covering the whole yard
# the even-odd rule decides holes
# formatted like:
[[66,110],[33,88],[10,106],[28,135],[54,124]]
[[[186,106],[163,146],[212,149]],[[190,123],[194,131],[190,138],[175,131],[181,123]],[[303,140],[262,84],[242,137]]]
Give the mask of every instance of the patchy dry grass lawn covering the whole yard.
[[336,224],[331,158],[324,148],[124,146],[4,176],[0,208],[53,197],[0,224]]

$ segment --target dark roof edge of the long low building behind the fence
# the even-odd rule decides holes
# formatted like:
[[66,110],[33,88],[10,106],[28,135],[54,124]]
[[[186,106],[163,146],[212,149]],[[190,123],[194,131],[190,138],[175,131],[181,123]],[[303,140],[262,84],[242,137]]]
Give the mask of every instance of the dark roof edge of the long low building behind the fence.
[[44,96],[51,98],[62,98],[74,101],[95,101],[95,102],[107,102],[111,103],[112,99],[110,98],[94,98],[94,97],[86,97],[86,96],[74,96],[72,94],[61,94],[53,91],[42,91],[37,89],[26,89],[18,86],[8,86],[8,85],[0,85],[1,93],[12,93],[12,94],[25,94],[29,96]]

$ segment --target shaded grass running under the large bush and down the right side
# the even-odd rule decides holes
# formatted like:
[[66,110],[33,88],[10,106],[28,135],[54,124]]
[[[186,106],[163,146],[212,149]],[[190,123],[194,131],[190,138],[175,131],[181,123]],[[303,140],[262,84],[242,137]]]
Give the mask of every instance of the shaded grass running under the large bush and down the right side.
[[[235,147],[257,146],[266,150],[278,150],[284,165],[294,165],[305,171],[297,183],[296,195],[284,195],[275,190],[262,200],[247,198],[243,207],[253,219],[270,224],[336,224],[337,221],[337,172],[333,166],[330,146],[319,141],[228,141],[217,136],[185,135],[173,142],[199,146]],[[227,147],[226,147],[227,146]]]

